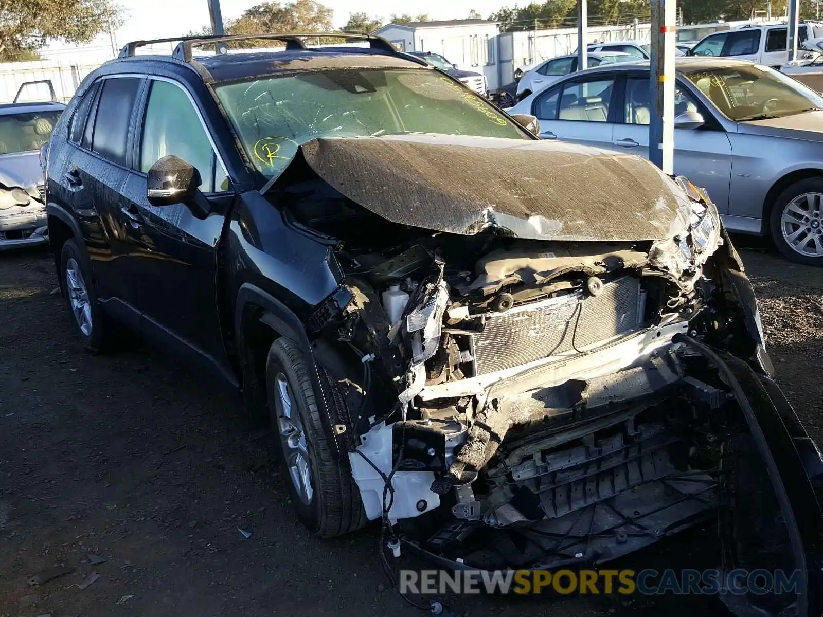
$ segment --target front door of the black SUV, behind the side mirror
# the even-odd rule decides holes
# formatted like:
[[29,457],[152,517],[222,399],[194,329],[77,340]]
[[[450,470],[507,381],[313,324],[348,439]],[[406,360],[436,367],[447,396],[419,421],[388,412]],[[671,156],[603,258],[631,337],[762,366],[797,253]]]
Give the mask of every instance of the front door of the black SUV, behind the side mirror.
[[[137,140],[137,169],[123,188],[132,246],[126,272],[137,290],[137,309],[165,342],[221,369],[226,352],[218,318],[216,248],[232,198],[226,172],[182,84],[150,81]],[[165,155],[198,169],[200,189],[212,205],[204,220],[182,203],[157,207],[148,202],[146,172]]]

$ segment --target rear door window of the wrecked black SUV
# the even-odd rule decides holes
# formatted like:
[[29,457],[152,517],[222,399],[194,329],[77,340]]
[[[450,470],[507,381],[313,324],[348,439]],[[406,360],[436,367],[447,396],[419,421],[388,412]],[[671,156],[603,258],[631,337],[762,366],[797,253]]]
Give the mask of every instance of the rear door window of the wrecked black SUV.
[[91,149],[119,165],[127,165],[128,127],[139,88],[139,78],[118,77],[106,79],[100,91]]

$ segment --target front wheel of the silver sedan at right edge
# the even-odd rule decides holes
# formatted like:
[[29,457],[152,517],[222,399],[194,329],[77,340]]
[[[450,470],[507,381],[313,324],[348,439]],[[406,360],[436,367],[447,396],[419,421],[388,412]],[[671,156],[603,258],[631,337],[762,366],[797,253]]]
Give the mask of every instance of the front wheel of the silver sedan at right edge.
[[823,178],[807,178],[780,193],[771,213],[771,234],[793,262],[823,266]]

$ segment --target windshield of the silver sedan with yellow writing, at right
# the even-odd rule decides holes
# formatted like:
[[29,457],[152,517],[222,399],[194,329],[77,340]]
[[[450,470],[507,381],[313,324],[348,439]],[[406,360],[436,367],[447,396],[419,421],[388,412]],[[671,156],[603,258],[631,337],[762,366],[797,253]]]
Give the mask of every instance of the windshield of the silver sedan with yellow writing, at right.
[[713,68],[684,76],[735,122],[782,118],[823,109],[823,98],[799,81],[759,64]]

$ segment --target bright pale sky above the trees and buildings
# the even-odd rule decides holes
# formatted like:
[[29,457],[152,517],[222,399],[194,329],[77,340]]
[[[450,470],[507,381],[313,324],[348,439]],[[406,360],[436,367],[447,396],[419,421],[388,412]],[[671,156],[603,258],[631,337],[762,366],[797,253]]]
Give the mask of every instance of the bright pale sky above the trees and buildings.
[[[262,0],[221,0],[223,18],[237,17]],[[500,7],[514,6],[515,0],[320,0],[334,10],[333,25],[343,26],[353,12],[366,12],[388,21],[398,15],[425,13],[431,19],[462,19],[476,10],[488,16]],[[523,3],[521,1],[521,3]],[[129,40],[161,39],[182,35],[209,22],[207,0],[119,0],[126,12],[125,25],[117,31],[119,45]],[[106,42],[108,36],[105,37]]]

